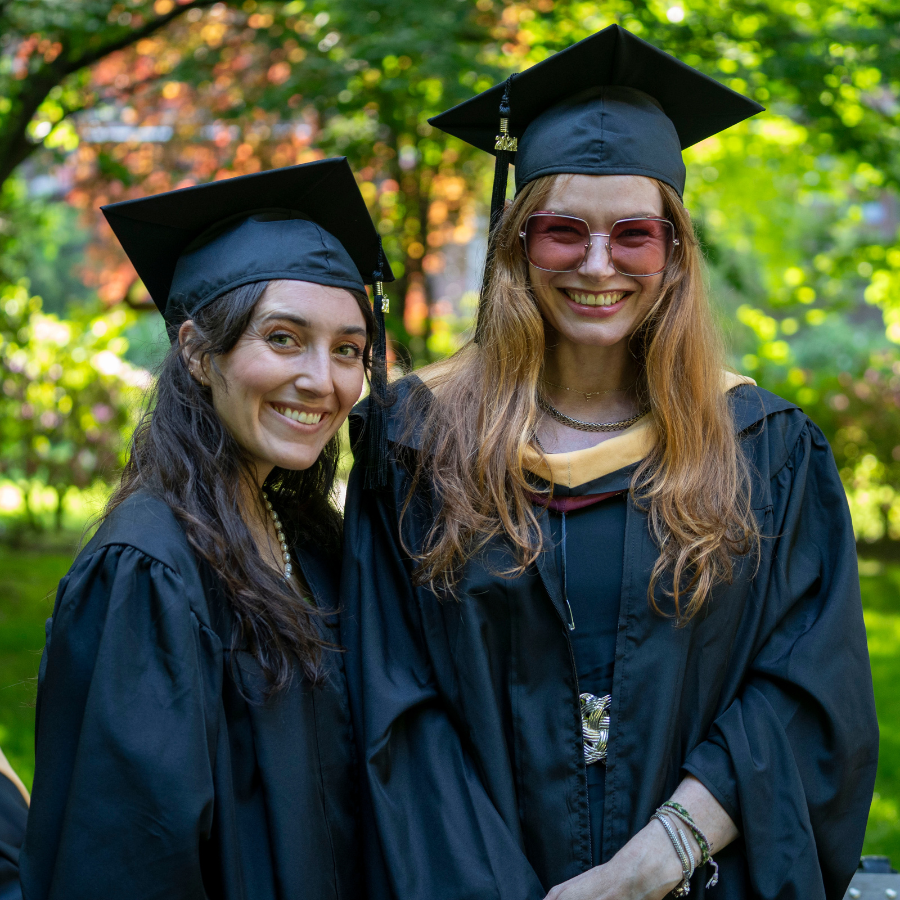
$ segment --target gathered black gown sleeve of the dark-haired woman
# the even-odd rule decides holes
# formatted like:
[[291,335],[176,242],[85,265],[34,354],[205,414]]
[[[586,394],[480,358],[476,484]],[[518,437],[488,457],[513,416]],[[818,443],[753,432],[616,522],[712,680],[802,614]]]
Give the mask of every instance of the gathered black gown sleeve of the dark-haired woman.
[[25,900],[205,900],[217,653],[173,569],[118,545],[76,561],[41,662]]

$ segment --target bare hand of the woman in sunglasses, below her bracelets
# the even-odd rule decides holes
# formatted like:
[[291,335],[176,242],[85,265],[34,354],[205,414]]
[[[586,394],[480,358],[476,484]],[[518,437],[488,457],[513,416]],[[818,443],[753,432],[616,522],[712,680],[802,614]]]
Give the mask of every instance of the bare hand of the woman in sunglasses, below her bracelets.
[[652,819],[608,863],[558,884],[545,900],[661,900],[681,882],[681,863]]

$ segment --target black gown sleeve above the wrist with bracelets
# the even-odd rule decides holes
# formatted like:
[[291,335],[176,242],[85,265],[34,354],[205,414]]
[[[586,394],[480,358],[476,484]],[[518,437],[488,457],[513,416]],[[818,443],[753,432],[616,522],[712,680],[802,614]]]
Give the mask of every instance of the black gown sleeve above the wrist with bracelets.
[[812,423],[772,478],[748,603],[754,633],[733,651],[742,683],[684,768],[738,826],[754,897],[839,900],[862,849],[878,725],[850,513]]

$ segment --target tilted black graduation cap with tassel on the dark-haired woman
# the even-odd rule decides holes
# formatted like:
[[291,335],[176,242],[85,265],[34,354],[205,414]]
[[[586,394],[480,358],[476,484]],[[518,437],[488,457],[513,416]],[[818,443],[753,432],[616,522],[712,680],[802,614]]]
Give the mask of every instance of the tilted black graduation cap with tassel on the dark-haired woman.
[[[346,158],[317,160],[102,207],[162,313],[178,326],[227,291],[288,279],[365,293],[374,285],[372,393],[387,390],[382,282],[394,275]],[[383,483],[379,403],[370,415],[367,481]],[[374,479],[374,482],[373,482]]]

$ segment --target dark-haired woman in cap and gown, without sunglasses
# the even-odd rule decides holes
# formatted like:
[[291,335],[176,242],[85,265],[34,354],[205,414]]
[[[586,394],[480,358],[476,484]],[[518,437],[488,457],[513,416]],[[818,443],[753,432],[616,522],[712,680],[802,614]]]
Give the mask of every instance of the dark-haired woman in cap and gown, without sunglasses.
[[332,490],[377,233],[343,159],[104,213],[173,345],[47,625],[24,896],[357,900]]

